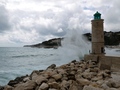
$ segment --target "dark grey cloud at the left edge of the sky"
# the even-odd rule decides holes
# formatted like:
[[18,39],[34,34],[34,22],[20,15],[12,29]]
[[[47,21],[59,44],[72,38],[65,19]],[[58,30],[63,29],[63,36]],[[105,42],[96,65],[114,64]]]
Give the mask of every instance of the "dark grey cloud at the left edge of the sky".
[[0,5],[0,33],[11,28],[8,11],[3,5]]

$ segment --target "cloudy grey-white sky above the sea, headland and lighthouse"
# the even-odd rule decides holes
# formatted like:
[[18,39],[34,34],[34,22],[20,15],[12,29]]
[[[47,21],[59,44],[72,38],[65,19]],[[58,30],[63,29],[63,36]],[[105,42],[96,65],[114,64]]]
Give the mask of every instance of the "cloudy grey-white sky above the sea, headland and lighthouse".
[[99,11],[105,31],[120,31],[120,0],[0,0],[0,47],[22,47],[91,32]]

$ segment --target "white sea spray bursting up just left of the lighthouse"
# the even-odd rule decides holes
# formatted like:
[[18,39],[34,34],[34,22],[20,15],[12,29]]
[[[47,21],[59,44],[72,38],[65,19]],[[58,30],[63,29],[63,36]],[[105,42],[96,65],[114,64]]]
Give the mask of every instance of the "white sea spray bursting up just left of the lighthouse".
[[88,42],[82,34],[82,30],[70,30],[62,41],[62,47],[59,48],[60,58],[64,62],[70,60],[83,59],[85,54],[90,50],[90,42]]

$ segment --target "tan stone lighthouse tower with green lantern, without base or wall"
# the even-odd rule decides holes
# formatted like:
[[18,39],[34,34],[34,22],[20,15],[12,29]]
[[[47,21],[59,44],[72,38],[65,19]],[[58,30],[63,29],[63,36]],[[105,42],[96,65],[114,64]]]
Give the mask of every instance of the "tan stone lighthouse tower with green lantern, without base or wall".
[[92,22],[92,54],[104,55],[104,30],[101,14],[96,12]]

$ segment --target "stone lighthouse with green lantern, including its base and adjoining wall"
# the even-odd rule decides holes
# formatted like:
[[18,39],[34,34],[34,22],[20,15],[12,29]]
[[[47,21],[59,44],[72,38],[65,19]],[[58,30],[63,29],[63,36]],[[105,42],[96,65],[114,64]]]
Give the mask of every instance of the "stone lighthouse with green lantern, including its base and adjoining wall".
[[101,14],[96,12],[93,20],[91,20],[92,26],[92,45],[90,54],[85,54],[85,61],[93,61],[98,64],[101,70],[108,69],[112,71],[120,72],[120,57],[108,56],[104,50],[104,19],[101,19]]

